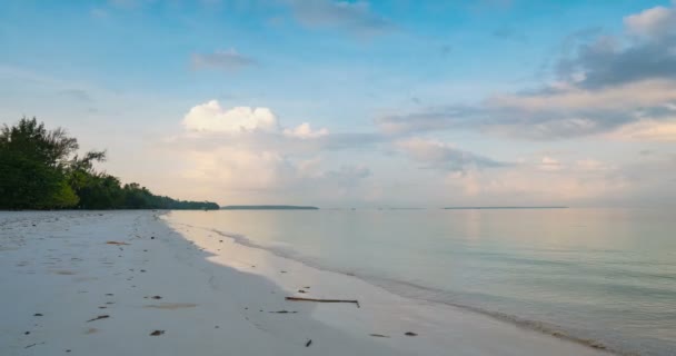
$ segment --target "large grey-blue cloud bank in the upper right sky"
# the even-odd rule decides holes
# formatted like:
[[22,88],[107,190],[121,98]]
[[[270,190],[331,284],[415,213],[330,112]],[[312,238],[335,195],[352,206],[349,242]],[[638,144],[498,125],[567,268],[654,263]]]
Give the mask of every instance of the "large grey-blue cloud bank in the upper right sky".
[[564,51],[553,70],[557,80],[541,88],[476,105],[382,116],[376,125],[389,135],[475,130],[534,140],[622,132],[645,122],[670,127],[676,120],[676,8],[648,9],[624,23],[624,36],[576,37],[583,42]]

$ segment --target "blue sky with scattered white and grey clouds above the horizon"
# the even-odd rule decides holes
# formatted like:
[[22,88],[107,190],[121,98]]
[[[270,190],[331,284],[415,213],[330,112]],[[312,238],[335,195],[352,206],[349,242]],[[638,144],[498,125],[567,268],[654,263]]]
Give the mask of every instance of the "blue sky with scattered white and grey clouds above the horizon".
[[670,0],[0,1],[0,122],[221,205],[676,206]]

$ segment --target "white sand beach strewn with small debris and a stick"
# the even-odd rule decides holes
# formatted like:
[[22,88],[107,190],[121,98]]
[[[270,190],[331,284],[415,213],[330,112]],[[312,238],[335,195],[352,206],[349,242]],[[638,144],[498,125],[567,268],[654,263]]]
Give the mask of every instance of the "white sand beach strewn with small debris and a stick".
[[171,212],[0,212],[0,355],[608,355],[238,245]]

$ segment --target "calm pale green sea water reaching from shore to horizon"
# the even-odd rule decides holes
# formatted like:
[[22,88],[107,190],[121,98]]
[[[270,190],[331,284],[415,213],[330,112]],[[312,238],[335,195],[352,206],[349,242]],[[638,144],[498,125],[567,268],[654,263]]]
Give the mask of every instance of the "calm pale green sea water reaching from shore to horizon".
[[285,257],[622,353],[676,354],[676,211],[172,211]]

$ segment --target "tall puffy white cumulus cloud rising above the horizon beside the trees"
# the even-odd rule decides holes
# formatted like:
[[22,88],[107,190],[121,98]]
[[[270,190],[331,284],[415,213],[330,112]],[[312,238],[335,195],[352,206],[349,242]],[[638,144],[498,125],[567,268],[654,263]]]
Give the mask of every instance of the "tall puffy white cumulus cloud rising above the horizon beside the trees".
[[165,147],[183,162],[187,186],[212,191],[223,204],[358,197],[370,176],[366,166],[322,159],[330,155],[321,149],[328,129],[309,122],[284,128],[269,108],[223,108],[211,100],[192,107],[183,127]]

